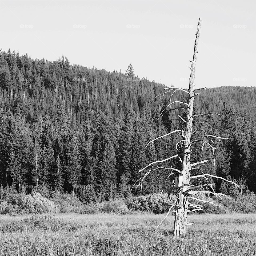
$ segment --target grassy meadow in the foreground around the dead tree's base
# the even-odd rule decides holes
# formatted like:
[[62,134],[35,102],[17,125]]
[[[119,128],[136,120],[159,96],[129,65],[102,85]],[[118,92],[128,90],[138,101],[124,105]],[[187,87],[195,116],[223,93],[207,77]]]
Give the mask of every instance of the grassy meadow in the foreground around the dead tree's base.
[[184,237],[164,215],[0,216],[0,255],[256,255],[256,214],[194,215]]

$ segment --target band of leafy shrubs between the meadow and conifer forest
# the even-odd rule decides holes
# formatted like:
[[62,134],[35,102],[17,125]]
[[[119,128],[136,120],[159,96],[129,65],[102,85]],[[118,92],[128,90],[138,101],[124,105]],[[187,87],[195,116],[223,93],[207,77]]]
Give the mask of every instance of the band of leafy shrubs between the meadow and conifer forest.
[[[49,197],[46,187],[38,188],[43,191],[46,197]],[[33,192],[34,191],[34,192]],[[155,214],[166,213],[169,210],[167,204],[172,204],[175,195],[171,201],[167,194],[162,194],[159,201],[154,206],[159,194],[129,196],[123,199],[113,199],[102,203],[88,202],[82,203],[74,194],[53,193],[50,199],[45,198],[41,193],[32,191],[32,194],[25,194],[25,191],[18,192],[15,188],[0,187],[0,214],[18,215],[18,214],[38,214],[38,213],[78,213],[78,214],[97,214],[97,213],[115,213],[130,214],[134,212],[151,212]],[[48,191],[48,192],[47,192]],[[201,197],[200,197],[201,198]],[[254,193],[247,192],[238,194],[236,198],[223,197],[217,201],[214,196],[202,197],[203,200],[211,201],[219,207],[210,203],[190,200],[191,203],[202,206],[203,211],[191,213],[211,213],[228,214],[237,213],[256,213],[256,196]],[[154,207],[153,207],[154,206]]]

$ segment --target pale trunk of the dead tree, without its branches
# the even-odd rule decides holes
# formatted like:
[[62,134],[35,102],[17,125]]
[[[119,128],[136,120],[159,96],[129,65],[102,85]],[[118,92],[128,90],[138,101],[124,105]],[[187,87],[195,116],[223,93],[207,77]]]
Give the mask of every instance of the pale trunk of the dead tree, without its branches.
[[[190,68],[190,78],[189,78],[189,97],[188,97],[188,107],[187,107],[187,120],[184,129],[184,143],[183,143],[183,162],[182,162],[182,184],[189,184],[190,182],[190,139],[192,133],[192,122],[193,122],[193,106],[194,106],[194,89],[195,89],[195,64],[197,60],[197,46],[198,39],[201,29],[201,19],[199,18],[197,26],[197,34],[195,38],[194,56]],[[188,195],[184,192],[187,190],[188,186],[183,186],[179,189],[178,200],[175,207],[175,220],[174,220],[174,230],[173,234],[175,236],[182,235],[186,232],[187,225],[187,208],[188,208]]]

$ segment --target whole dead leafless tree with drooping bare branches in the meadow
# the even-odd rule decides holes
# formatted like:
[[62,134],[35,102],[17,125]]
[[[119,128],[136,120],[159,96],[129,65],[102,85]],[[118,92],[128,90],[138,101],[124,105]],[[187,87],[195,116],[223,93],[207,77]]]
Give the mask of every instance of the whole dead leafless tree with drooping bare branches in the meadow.
[[[154,140],[150,141],[147,144],[147,146],[149,146],[150,144],[153,146],[153,142],[157,139],[161,139],[165,136],[169,136],[169,135],[174,134],[174,133],[180,133],[181,134],[181,141],[179,141],[176,144],[176,149],[177,150],[178,150],[178,148],[182,149],[182,154],[177,153],[176,155],[170,156],[170,157],[168,157],[164,160],[152,162],[149,165],[147,165],[146,167],[144,167],[142,170],[140,170],[139,172],[141,172],[145,169],[148,169],[148,167],[150,167],[151,165],[166,162],[166,161],[171,160],[173,158],[179,158],[180,159],[180,161],[182,162],[182,168],[181,168],[181,170],[178,170],[178,169],[175,169],[175,168],[172,168],[172,167],[171,168],[165,168],[165,167],[158,166],[155,169],[147,171],[145,173],[145,175],[141,179],[138,180],[138,183],[137,183],[137,187],[142,186],[143,180],[148,175],[150,175],[150,173],[152,173],[155,170],[159,170],[159,172],[160,172],[160,170],[170,172],[169,175],[167,175],[167,178],[166,178],[165,183],[162,187],[162,191],[161,191],[161,193],[158,197],[158,200],[161,197],[161,194],[163,193],[163,191],[168,191],[169,196],[170,196],[170,193],[175,193],[176,194],[176,200],[174,201],[173,204],[170,204],[170,209],[169,209],[169,211],[166,215],[166,217],[167,217],[168,214],[170,213],[171,209],[175,206],[175,220],[174,220],[174,229],[173,229],[173,234],[175,236],[179,236],[181,234],[184,234],[186,232],[186,226],[193,224],[193,223],[188,223],[187,222],[187,212],[188,211],[203,210],[200,205],[190,203],[189,199],[192,199],[193,201],[201,201],[201,202],[205,202],[205,203],[207,202],[207,203],[211,203],[211,204],[216,205],[215,203],[213,203],[211,201],[206,201],[206,200],[200,199],[199,197],[196,197],[196,195],[198,195],[198,194],[202,194],[202,195],[203,194],[208,194],[208,195],[209,194],[214,194],[217,198],[220,198],[220,199],[222,199],[222,196],[225,196],[224,194],[221,194],[221,193],[215,193],[215,191],[213,189],[214,184],[210,184],[209,183],[209,178],[208,178],[208,177],[213,177],[213,178],[223,179],[222,177],[217,177],[217,176],[214,176],[214,175],[205,174],[203,172],[202,172],[202,174],[196,175],[196,176],[191,176],[190,175],[191,170],[198,169],[198,170],[201,171],[200,166],[203,165],[204,163],[210,161],[209,159],[205,159],[205,160],[202,160],[202,161],[196,162],[196,163],[191,163],[190,162],[191,153],[193,153],[193,151],[199,149],[199,148],[195,148],[195,149],[191,148],[191,146],[194,143],[202,143],[202,146],[200,146],[200,149],[202,149],[202,150],[203,149],[211,150],[213,152],[213,155],[214,155],[214,150],[216,149],[214,147],[214,145],[216,143],[213,140],[214,139],[218,139],[218,140],[227,139],[227,138],[221,138],[221,137],[218,137],[218,136],[215,136],[215,135],[207,134],[202,129],[192,131],[193,119],[194,118],[196,118],[198,116],[203,116],[203,115],[213,115],[213,114],[220,115],[218,113],[204,113],[204,114],[193,115],[194,98],[197,95],[199,95],[199,93],[195,93],[195,91],[200,90],[200,89],[195,89],[195,66],[196,66],[197,54],[198,54],[197,48],[198,48],[198,40],[199,40],[199,35],[200,35],[200,29],[201,29],[201,19],[199,18],[198,26],[197,26],[197,33],[196,33],[196,38],[195,38],[195,44],[194,44],[193,60],[190,61],[191,62],[191,67],[190,67],[190,78],[189,78],[189,90],[185,90],[185,89],[181,89],[181,88],[177,88],[177,87],[169,87],[169,88],[166,88],[168,91],[165,92],[165,93],[171,93],[171,97],[176,91],[182,91],[182,93],[186,93],[186,95],[187,95],[187,102],[183,102],[183,101],[171,102],[170,101],[170,104],[168,106],[166,106],[165,109],[163,110],[163,111],[165,111],[168,107],[170,107],[170,110],[168,110],[168,111],[172,111],[172,110],[175,110],[175,109],[185,109],[186,110],[186,120],[183,119],[181,116],[179,116],[181,118],[182,122],[183,122],[183,129],[175,130],[175,131],[172,131],[168,134],[162,135],[158,138],[155,138]],[[201,88],[201,89],[205,89],[205,88]],[[160,96],[160,95],[158,95],[158,96]],[[181,104],[181,107],[171,108],[171,105],[174,104],[174,103]],[[163,113],[163,111],[162,111],[162,113]],[[161,116],[161,114],[160,114],[160,116]],[[193,135],[193,134],[198,134],[198,136],[199,136],[199,138],[195,141],[191,141],[191,135]],[[147,146],[146,146],[146,148],[147,148]],[[174,178],[175,178],[175,186],[170,187],[169,185],[166,185],[166,181],[167,181],[167,179],[172,178],[173,175],[174,175]],[[191,179],[200,178],[200,177],[202,177],[204,180],[206,180],[206,184],[199,185],[199,186],[191,185],[191,183],[190,183]],[[226,179],[223,179],[223,180],[228,181]],[[231,181],[228,181],[228,182],[231,182]],[[231,182],[231,183],[234,183],[234,182]],[[206,190],[206,188],[209,188],[211,191]],[[216,205],[216,206],[218,206],[218,205]],[[159,223],[159,225],[161,223]]]

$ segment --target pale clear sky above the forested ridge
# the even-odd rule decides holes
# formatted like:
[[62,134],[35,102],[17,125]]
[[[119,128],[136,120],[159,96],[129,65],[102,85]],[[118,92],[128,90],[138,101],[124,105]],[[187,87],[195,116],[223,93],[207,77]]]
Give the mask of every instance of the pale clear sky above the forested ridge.
[[255,86],[256,2],[0,0],[0,47],[188,88],[198,18],[196,88]]

